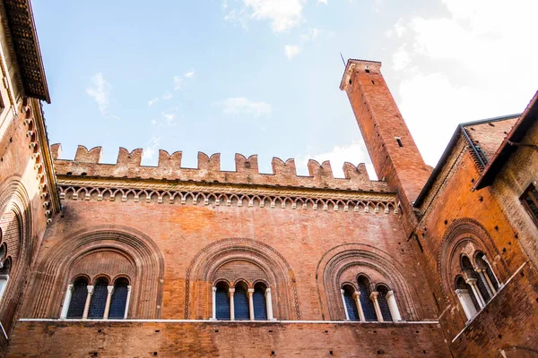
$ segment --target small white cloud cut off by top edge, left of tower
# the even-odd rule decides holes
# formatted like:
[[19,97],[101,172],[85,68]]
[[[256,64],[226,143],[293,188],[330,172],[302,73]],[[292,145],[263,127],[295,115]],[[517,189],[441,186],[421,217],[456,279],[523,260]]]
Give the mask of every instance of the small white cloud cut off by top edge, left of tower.
[[225,20],[237,21],[243,27],[247,27],[250,20],[270,21],[271,29],[278,33],[291,30],[299,24],[306,0],[242,0],[240,3],[238,8],[231,10],[230,4],[222,3],[222,8],[226,11]]

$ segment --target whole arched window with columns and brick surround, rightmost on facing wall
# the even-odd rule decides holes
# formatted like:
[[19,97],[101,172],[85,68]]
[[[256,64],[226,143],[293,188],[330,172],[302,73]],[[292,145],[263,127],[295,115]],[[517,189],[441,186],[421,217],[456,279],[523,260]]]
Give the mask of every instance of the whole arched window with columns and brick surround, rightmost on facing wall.
[[323,275],[317,273],[323,277],[318,288],[325,291],[324,305],[331,320],[418,320],[414,304],[420,298],[412,297],[397,260],[360,244],[332,251],[319,264]]

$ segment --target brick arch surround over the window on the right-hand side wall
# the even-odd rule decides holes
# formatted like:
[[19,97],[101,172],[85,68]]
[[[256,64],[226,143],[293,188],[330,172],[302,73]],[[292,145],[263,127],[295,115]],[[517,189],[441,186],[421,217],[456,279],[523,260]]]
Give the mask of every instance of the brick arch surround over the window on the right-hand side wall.
[[[461,267],[462,255],[467,256],[474,262],[477,251],[482,251],[490,260],[500,256],[495,243],[491,240],[490,234],[478,221],[470,217],[462,217],[454,220],[447,227],[440,244],[438,253],[438,276],[441,280],[445,297],[454,295],[454,285],[456,274]],[[500,277],[508,277],[508,268],[504,260],[496,265],[496,273]],[[493,263],[493,262],[491,262]]]

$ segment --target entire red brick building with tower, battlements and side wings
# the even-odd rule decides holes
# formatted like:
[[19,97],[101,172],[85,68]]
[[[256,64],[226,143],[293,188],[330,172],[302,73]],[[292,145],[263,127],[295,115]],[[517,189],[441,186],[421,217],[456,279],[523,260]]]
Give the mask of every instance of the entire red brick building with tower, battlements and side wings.
[[[363,164],[49,145],[28,0],[0,1],[4,356],[538,356],[538,104],[460,124],[426,166],[349,60]],[[54,119],[52,119],[54,120]]]

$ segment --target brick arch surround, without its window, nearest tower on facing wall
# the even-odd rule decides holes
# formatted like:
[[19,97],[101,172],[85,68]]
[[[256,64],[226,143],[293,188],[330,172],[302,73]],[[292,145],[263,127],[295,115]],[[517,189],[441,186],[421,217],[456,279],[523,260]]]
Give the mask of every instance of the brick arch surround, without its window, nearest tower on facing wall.
[[418,320],[411,289],[402,272],[404,267],[395,258],[373,246],[361,243],[336,246],[325,252],[317,264],[317,292],[321,307],[323,309],[325,302],[330,320],[341,320],[344,317],[341,286],[351,281],[351,277],[356,282],[357,277],[365,276],[369,277],[370,283],[384,284],[394,290],[404,320]]

